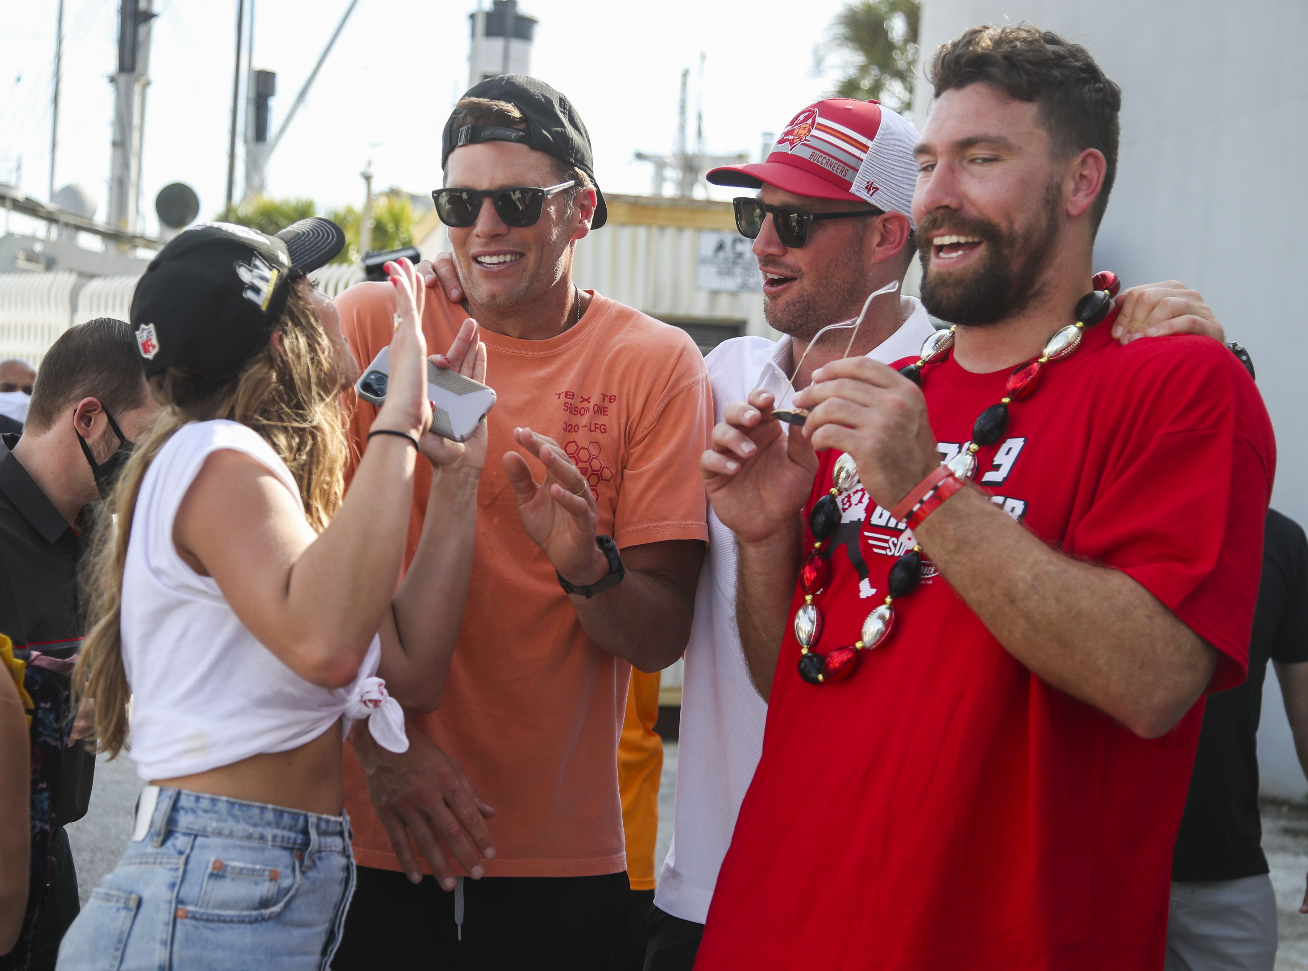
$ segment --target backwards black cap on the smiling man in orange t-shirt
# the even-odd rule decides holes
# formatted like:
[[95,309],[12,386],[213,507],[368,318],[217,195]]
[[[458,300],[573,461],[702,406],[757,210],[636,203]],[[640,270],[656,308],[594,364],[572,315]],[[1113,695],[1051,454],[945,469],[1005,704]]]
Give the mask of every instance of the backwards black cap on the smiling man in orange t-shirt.
[[526,74],[500,74],[488,77],[481,84],[472,85],[463,93],[464,98],[485,98],[506,101],[522,112],[527,131],[504,125],[460,125],[455,119],[463,112],[455,108],[445,123],[441,139],[441,167],[454,149],[475,145],[479,141],[513,141],[536,152],[560,158],[568,165],[581,169],[595,183],[595,218],[591,229],[599,229],[608,221],[608,206],[604,193],[595,182],[595,161],[590,149],[590,132],[586,131],[581,115],[562,94]]

